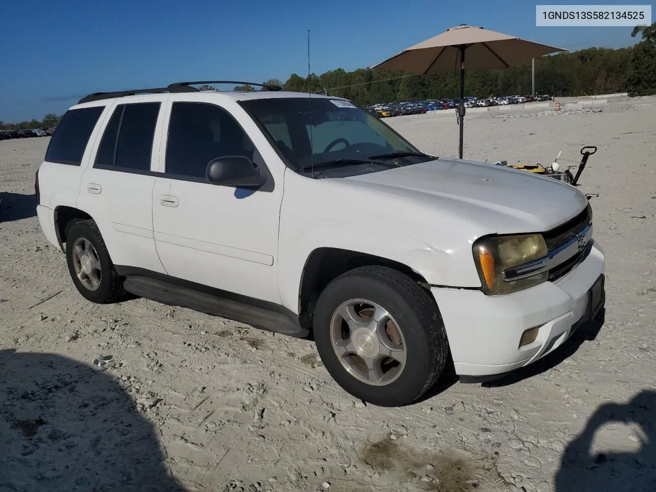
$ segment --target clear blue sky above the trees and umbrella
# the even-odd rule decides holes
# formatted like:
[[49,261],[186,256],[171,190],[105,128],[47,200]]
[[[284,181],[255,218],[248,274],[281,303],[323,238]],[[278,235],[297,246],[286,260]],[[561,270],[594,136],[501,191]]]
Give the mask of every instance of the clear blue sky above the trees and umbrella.
[[537,28],[526,0],[3,1],[0,120],[62,113],[96,91],[284,82],[307,73],[308,29],[312,72],[323,73],[371,66],[458,24],[571,51],[636,42],[631,28]]

